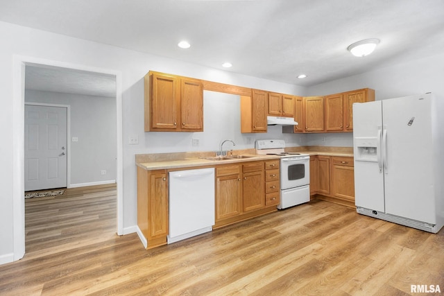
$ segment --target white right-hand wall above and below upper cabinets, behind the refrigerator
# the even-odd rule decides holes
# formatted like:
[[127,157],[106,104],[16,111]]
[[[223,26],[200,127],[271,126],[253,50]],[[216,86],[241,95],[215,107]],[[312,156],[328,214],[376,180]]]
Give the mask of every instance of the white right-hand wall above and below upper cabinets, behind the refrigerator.
[[[376,53],[375,53],[376,54]],[[444,100],[444,53],[325,82],[307,89],[309,96],[324,96],[353,89],[375,89],[375,100],[434,93]],[[308,145],[353,146],[353,134],[307,134]],[[323,141],[324,140],[324,141]]]

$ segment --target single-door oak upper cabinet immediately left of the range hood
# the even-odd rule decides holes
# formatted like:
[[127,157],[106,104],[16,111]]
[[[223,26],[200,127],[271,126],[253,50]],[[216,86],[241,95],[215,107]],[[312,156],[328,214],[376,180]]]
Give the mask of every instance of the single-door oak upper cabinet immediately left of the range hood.
[[241,132],[266,132],[267,92],[253,89],[241,96]]

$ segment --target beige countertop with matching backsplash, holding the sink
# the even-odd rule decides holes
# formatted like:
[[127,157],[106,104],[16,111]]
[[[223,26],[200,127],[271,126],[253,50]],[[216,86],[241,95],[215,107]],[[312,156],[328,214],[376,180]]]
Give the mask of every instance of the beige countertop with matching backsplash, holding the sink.
[[[308,155],[325,155],[353,157],[352,147],[323,147],[323,146],[305,146],[290,147],[285,149],[287,152],[305,153]],[[232,164],[239,162],[253,162],[255,160],[279,159],[276,155],[257,155],[255,149],[234,150],[233,155],[245,155],[248,158],[242,159],[223,159],[212,160],[208,157],[214,157],[211,152],[196,153],[153,153],[136,155],[136,165],[148,171],[190,168],[199,166],[216,166],[219,164]]]

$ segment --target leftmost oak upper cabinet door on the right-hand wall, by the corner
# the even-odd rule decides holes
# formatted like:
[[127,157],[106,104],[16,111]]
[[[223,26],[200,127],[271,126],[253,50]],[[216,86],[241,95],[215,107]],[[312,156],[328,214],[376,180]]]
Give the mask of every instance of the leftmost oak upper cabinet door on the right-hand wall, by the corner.
[[324,97],[305,97],[305,131],[322,132],[324,130]]

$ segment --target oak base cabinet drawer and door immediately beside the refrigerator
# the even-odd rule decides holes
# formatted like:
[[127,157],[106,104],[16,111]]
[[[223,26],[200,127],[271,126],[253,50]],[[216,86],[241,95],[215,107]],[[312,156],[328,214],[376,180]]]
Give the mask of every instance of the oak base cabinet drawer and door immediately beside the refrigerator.
[[332,195],[355,202],[355,170],[352,157],[334,157],[332,162]]

